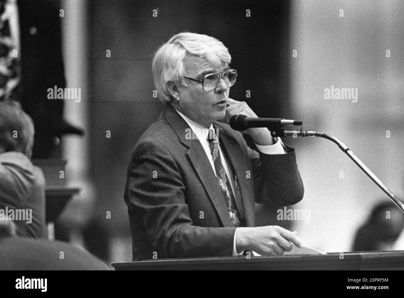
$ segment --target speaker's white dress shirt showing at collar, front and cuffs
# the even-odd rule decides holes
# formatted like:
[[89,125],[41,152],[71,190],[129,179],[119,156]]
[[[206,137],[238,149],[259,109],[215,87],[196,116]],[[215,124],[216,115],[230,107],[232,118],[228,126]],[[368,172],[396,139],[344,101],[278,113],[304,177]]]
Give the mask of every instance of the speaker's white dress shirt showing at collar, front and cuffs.
[[[200,125],[200,124],[192,121],[191,119],[189,119],[187,116],[185,116],[183,113],[181,113],[177,109],[176,109],[176,111],[185,120],[185,122],[187,122],[187,124],[189,125],[191,130],[194,132],[195,136],[198,137],[203,149],[205,150],[206,156],[209,159],[210,166],[212,166],[213,173],[215,173],[215,176],[216,176],[215,164],[213,162],[212,153],[210,153],[209,141],[207,140],[209,129],[215,130],[213,128],[213,125],[210,124],[209,128],[203,127],[202,125]],[[255,145],[257,146],[257,149],[259,151],[261,151],[262,153],[264,153],[264,154],[284,154],[285,153],[285,147],[284,147],[284,145],[282,143],[282,140],[279,139],[279,138],[275,138],[275,139],[276,139],[276,143],[273,144],[273,145],[261,146],[261,145],[257,145],[257,143],[255,143]],[[224,170],[226,172],[227,177],[230,177],[230,172],[229,172],[229,166],[228,166],[228,163],[227,163],[227,159],[223,155],[222,149],[220,147],[220,136],[217,136],[217,140],[219,141],[219,153],[220,153],[220,158],[221,158],[221,161],[222,161],[223,168],[224,168]],[[230,186],[231,186],[231,190],[233,191],[233,195],[234,195],[234,197],[236,197],[234,180],[229,178],[229,183],[230,183]],[[236,250],[236,234],[237,234],[237,229],[236,229],[236,233],[234,233],[233,256],[238,255],[237,250]],[[242,254],[242,252],[240,254]]]

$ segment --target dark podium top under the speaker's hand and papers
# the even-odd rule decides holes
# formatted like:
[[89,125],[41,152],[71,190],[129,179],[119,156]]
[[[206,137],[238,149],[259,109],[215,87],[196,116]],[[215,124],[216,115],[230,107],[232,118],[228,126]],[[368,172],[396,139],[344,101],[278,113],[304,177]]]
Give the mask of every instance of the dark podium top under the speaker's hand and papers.
[[115,270],[404,270],[404,251],[115,262]]

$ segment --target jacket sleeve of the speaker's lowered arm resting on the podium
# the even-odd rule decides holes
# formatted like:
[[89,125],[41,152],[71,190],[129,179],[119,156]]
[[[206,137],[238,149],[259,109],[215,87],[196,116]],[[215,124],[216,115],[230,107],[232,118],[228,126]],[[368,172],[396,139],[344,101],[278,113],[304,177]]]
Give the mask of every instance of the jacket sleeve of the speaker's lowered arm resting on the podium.
[[164,145],[152,140],[137,145],[127,191],[129,216],[141,218],[159,258],[231,256],[236,228],[193,225],[183,179]]

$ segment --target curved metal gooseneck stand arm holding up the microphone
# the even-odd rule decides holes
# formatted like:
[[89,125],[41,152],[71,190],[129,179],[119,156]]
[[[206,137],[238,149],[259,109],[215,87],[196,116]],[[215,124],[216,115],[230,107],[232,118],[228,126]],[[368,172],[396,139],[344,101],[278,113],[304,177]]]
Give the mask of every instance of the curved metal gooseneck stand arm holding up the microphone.
[[330,134],[327,134],[325,132],[317,132],[317,131],[303,131],[303,130],[284,130],[284,129],[278,129],[274,130],[271,132],[271,135],[274,137],[277,136],[316,136],[324,139],[328,139],[335,144],[338,145],[338,147],[355,162],[355,164],[358,165],[362,169],[362,171],[365,172],[366,175],[369,176],[370,179],[373,180],[374,183],[377,184],[381,188],[382,191],[384,191],[391,200],[400,208],[402,212],[404,212],[404,204],[392,193],[384,184],[381,182],[379,178],[375,174],[372,173],[371,170],[365,164],[358,158],[356,157],[355,154],[351,151],[351,149],[348,148],[347,145],[345,145],[342,141],[337,139],[335,136],[332,136]]

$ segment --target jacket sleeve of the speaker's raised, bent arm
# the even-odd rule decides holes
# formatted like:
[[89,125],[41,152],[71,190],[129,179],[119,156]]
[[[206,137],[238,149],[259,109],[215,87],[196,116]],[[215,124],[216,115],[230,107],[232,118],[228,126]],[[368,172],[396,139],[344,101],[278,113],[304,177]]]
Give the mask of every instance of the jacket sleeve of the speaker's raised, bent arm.
[[245,145],[254,177],[255,202],[289,206],[303,199],[304,187],[296,163],[295,149],[284,144],[284,154],[265,154]]

